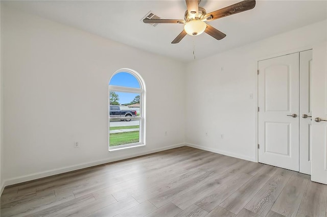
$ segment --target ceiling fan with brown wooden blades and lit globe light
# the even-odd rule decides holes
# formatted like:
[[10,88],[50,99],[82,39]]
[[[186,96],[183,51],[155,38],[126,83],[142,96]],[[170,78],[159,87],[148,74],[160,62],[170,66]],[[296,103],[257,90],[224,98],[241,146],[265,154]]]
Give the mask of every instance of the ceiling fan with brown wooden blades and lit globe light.
[[176,44],[182,40],[186,34],[191,36],[200,35],[205,32],[217,40],[225,38],[226,34],[215,29],[205,21],[212,21],[221,17],[237,14],[243,11],[251,10],[255,6],[255,0],[244,0],[242,2],[230,5],[228,7],[206,13],[204,8],[199,7],[201,0],[185,0],[188,10],[185,11],[184,20],[178,19],[144,19],[145,23],[180,23],[184,24],[184,30],[172,41]]

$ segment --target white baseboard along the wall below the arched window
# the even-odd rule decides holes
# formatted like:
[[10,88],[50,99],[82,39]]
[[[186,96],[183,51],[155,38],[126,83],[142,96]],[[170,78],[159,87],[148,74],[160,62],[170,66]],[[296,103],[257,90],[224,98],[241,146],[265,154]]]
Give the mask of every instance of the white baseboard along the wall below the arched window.
[[3,183],[3,186],[2,186],[2,190],[3,190],[3,188],[5,186],[8,186],[8,185],[13,185],[13,184],[21,183],[21,182],[31,181],[31,180],[34,180],[34,179],[53,176],[53,175],[57,175],[57,174],[60,174],[60,173],[72,172],[74,170],[85,169],[85,168],[88,168],[88,167],[94,167],[94,166],[98,166],[98,165],[102,165],[102,164],[107,164],[107,163],[113,162],[113,161],[124,160],[124,159],[132,158],[132,157],[138,157],[138,156],[142,156],[142,155],[146,155],[146,154],[152,154],[152,153],[156,153],[156,152],[159,152],[159,151],[165,151],[165,150],[169,150],[169,149],[173,149],[173,148],[178,148],[178,147],[181,147],[181,146],[185,146],[185,144],[180,143],[180,144],[175,144],[175,145],[171,145],[171,146],[166,146],[166,147],[163,147],[163,148],[153,149],[153,150],[150,150],[150,151],[138,152],[138,153],[130,154],[130,155],[124,155],[124,156],[121,156],[121,157],[107,158],[107,159],[87,162],[86,164],[78,164],[78,165],[73,165],[73,166],[69,166],[69,167],[43,171],[43,172],[40,172],[40,173],[34,173],[34,174],[25,175],[25,176],[19,176],[19,177],[15,177],[15,178],[12,178],[12,179],[5,180],[4,183]]

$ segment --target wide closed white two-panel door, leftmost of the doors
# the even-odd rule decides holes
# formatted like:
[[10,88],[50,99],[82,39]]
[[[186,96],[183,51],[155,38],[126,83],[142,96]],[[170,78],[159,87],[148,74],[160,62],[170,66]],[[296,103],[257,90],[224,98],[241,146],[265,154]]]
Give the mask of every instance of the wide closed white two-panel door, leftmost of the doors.
[[299,53],[259,61],[259,162],[299,171]]

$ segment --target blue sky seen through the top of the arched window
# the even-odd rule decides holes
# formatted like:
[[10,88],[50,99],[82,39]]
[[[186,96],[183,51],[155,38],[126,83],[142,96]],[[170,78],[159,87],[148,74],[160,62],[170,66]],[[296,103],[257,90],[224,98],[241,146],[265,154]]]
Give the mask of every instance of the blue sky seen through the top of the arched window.
[[[109,85],[139,88],[139,83],[137,79],[128,72],[119,72],[115,74],[110,79]],[[123,92],[116,92],[116,94],[118,94],[119,96],[120,104],[130,103],[131,101],[133,101],[135,96],[139,95],[135,93],[123,93]]]

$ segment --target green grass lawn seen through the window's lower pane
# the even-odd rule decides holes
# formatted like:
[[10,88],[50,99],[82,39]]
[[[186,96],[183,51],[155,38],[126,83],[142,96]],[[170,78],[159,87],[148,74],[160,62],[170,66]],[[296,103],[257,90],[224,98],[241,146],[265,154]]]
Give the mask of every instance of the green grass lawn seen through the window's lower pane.
[[139,142],[139,131],[110,133],[109,146],[125,145]]

